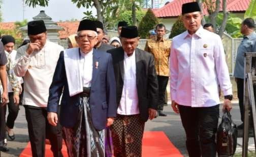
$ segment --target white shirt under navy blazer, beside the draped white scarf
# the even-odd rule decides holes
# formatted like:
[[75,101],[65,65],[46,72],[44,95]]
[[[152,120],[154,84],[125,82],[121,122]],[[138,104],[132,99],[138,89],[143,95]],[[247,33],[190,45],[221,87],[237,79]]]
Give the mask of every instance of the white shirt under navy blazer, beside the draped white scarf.
[[80,51],[80,68],[83,80],[83,87],[90,87],[91,86],[91,79],[92,79],[92,68],[93,68],[93,49],[87,54],[82,53]]

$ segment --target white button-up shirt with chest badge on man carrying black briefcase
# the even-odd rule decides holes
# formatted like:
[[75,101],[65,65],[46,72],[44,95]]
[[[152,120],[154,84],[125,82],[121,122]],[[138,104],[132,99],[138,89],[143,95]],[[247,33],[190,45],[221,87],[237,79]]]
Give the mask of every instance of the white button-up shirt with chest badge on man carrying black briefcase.
[[173,38],[170,56],[171,99],[183,106],[219,104],[218,84],[224,95],[232,84],[220,37],[203,27]]

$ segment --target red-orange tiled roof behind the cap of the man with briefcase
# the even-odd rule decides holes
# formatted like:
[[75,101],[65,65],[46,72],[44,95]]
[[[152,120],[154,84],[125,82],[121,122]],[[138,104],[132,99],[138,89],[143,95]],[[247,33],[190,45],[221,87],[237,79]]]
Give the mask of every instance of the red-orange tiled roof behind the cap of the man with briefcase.
[[[181,15],[182,4],[189,2],[193,2],[193,0],[174,0],[158,10],[153,10],[153,12],[158,18],[177,17]],[[227,0],[227,9],[230,12],[245,12],[249,3],[250,0]],[[222,0],[220,0],[220,11],[222,11]],[[206,8],[204,8],[204,14],[208,14]]]

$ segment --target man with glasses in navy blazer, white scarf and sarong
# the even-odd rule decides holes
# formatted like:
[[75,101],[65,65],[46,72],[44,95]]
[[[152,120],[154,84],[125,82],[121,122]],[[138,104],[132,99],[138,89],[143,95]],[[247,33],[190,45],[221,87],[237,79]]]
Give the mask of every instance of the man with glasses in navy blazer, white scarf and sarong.
[[[60,103],[60,124],[63,128],[73,129],[74,132],[77,132],[78,125],[83,127],[83,123],[79,124],[79,120],[82,117],[80,115],[81,105],[85,108],[83,111],[83,117],[85,119],[82,122],[86,123],[87,114],[87,118],[91,118],[89,124],[92,122],[92,127],[89,126],[89,130],[92,130],[92,133],[101,131],[106,126],[110,126],[114,121],[113,118],[116,116],[116,84],[112,57],[106,52],[93,48],[97,43],[97,32],[94,31],[92,23],[90,20],[80,22],[78,35],[76,36],[79,47],[65,49],[60,53],[49,89],[49,123],[51,125],[58,123],[56,113],[63,89]],[[84,91],[84,87],[90,87],[89,96],[83,96],[84,92],[88,93],[88,91]],[[83,97],[88,97],[86,99],[88,100],[87,106],[85,105],[87,102],[84,101]],[[87,132],[87,124],[85,125],[84,129]],[[82,130],[81,134],[83,134]],[[99,134],[101,133],[99,132]],[[85,140],[86,143],[89,141],[87,138]],[[96,143],[97,139],[94,142]],[[68,144],[69,153],[75,153],[72,152],[73,148],[70,146],[75,144]],[[88,145],[85,145],[85,147],[87,153],[91,151],[89,153],[93,156],[93,148],[88,148]],[[84,148],[79,148],[77,151],[81,152],[80,149]],[[100,148],[99,150],[97,148],[97,151],[99,151],[99,154],[102,152]],[[81,156],[82,154],[79,155]]]

